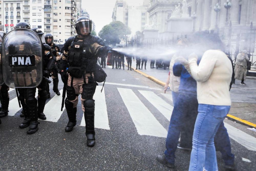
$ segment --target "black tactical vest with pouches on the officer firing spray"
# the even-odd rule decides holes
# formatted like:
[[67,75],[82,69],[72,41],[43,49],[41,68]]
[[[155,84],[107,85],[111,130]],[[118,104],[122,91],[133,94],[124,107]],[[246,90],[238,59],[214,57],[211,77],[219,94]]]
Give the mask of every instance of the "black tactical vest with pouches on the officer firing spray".
[[95,71],[97,58],[91,53],[93,49],[90,45],[97,42],[97,39],[94,36],[88,36],[85,39],[77,40],[77,36],[73,37],[70,45],[68,73],[71,77],[81,78],[85,73]]

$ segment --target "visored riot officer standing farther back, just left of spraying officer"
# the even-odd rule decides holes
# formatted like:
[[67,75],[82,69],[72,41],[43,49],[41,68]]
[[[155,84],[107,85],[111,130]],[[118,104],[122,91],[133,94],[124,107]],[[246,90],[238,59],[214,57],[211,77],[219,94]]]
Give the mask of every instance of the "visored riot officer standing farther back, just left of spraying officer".
[[59,89],[58,89],[58,84],[59,84],[59,77],[58,77],[58,68],[59,68],[59,62],[61,58],[61,53],[60,53],[60,47],[53,42],[53,36],[48,33],[45,35],[45,43],[48,44],[51,47],[51,51],[56,56],[56,65],[53,68],[51,72],[51,78],[53,80],[53,91],[57,94],[60,95]]

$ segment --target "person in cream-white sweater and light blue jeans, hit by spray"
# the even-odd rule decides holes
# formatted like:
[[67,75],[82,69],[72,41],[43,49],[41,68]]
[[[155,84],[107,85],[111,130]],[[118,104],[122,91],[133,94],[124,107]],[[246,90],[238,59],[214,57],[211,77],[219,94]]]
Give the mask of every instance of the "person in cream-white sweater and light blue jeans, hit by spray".
[[197,81],[198,115],[193,134],[189,171],[218,170],[214,136],[230,110],[229,86],[232,64],[221,51],[222,42],[215,34],[198,34],[198,50],[205,50],[199,65],[197,55],[182,61]]

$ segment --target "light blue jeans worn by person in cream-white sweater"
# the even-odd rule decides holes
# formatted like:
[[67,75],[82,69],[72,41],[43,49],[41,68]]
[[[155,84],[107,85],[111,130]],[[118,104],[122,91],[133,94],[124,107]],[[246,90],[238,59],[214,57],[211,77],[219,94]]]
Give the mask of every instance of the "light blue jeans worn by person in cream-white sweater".
[[230,106],[198,105],[189,171],[218,170],[214,136],[229,110]]

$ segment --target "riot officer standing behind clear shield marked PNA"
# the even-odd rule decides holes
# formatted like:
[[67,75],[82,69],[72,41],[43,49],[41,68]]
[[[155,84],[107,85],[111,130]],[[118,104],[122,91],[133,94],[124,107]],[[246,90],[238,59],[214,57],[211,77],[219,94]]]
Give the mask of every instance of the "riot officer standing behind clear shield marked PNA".
[[[5,41],[8,40],[8,41]],[[8,87],[17,88],[25,119],[20,128],[27,134],[38,131],[36,87],[42,81],[42,43],[26,22],[19,22],[3,40],[3,78]],[[44,74],[46,76],[46,74]]]

